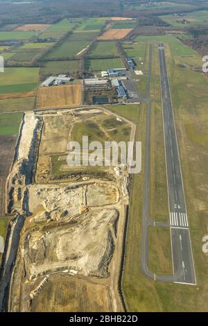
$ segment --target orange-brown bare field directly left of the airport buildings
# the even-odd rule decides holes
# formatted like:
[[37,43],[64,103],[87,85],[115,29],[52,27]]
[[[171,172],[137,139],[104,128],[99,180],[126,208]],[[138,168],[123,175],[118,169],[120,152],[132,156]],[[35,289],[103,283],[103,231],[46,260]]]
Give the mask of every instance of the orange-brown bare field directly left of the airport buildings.
[[40,87],[37,108],[77,106],[82,101],[82,85]]

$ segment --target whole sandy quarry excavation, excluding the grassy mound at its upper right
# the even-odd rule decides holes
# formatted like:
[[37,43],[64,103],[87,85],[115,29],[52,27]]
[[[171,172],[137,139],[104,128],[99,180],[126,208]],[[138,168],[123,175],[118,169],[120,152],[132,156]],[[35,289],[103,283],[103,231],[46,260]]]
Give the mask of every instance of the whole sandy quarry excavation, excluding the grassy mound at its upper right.
[[[119,184],[100,178],[37,184],[31,178],[34,157],[53,152],[50,130],[56,139],[66,120],[60,111],[52,112],[44,119],[41,112],[24,114],[8,181],[8,207],[16,218],[25,218],[10,280],[9,311],[121,311],[117,281],[112,285],[112,280],[119,275],[123,248],[122,180]],[[66,124],[72,119],[71,114],[68,117]],[[45,126],[47,119],[49,125]],[[64,130],[66,139],[70,130],[71,126]],[[58,142],[55,147],[57,151]],[[46,163],[49,169],[50,160]],[[60,292],[62,282],[69,288]],[[82,302],[90,302],[90,307],[80,302],[77,291],[81,289]],[[43,298],[49,299],[40,308]]]

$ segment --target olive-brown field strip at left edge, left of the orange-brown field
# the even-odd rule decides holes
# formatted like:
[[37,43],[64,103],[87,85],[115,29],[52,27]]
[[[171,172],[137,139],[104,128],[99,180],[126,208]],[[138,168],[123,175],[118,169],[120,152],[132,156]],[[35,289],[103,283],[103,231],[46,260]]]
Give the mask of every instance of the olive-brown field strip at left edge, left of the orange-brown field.
[[34,103],[35,97],[8,98],[5,100],[0,100],[0,112],[33,110]]

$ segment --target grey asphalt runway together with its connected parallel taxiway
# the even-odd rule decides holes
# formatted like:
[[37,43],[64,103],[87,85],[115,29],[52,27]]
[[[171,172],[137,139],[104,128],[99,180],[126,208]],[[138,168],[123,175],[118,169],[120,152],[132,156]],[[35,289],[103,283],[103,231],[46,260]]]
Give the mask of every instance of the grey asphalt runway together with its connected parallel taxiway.
[[[150,80],[152,71],[152,45],[149,51],[149,69],[146,92],[146,153],[144,171],[144,203],[142,213],[141,271],[146,277],[157,282],[176,282],[196,284],[193,265],[189,221],[184,197],[180,157],[177,147],[173,105],[166,68],[166,55],[163,44],[159,45],[159,64],[162,91],[162,108],[164,119],[164,141],[166,150],[166,173],[168,184],[169,222],[155,223],[149,214],[150,198],[150,126],[151,101]],[[149,228],[171,228],[171,248],[173,258],[173,275],[156,275],[148,268]]]

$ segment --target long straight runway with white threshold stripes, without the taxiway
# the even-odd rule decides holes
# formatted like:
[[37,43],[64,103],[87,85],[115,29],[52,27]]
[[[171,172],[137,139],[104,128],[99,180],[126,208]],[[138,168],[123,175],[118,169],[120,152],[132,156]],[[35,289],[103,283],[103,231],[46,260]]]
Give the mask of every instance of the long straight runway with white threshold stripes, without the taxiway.
[[166,175],[173,257],[173,282],[196,284],[191,237],[189,232],[189,217],[187,215],[184,196],[173,105],[171,101],[171,91],[166,67],[166,55],[163,44],[159,44],[159,69],[164,120]]

